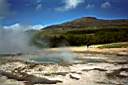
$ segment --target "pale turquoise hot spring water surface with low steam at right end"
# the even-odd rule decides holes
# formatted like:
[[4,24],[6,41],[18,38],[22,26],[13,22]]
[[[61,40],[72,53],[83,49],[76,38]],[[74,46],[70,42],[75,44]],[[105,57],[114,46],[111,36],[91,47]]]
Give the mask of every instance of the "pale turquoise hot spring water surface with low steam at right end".
[[31,56],[29,60],[33,63],[66,63],[70,64],[74,62],[75,55],[72,53],[50,53],[46,55]]

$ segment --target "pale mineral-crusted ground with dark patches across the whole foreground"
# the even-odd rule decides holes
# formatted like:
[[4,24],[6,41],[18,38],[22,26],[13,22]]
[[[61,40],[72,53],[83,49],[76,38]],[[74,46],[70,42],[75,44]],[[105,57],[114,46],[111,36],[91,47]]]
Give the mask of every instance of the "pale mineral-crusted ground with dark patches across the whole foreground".
[[0,85],[128,85],[128,56],[74,54],[72,63],[60,57],[50,63],[51,56],[34,62],[1,57]]

